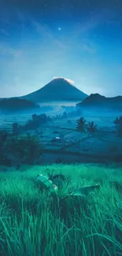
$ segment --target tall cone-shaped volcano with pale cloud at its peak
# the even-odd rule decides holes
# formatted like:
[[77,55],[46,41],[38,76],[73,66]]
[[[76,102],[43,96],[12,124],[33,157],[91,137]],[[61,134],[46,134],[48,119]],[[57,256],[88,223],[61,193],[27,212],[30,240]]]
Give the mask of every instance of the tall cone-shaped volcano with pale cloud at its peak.
[[87,95],[73,86],[65,78],[54,78],[38,91],[20,98],[26,98],[32,102],[57,102],[57,101],[82,101]]

